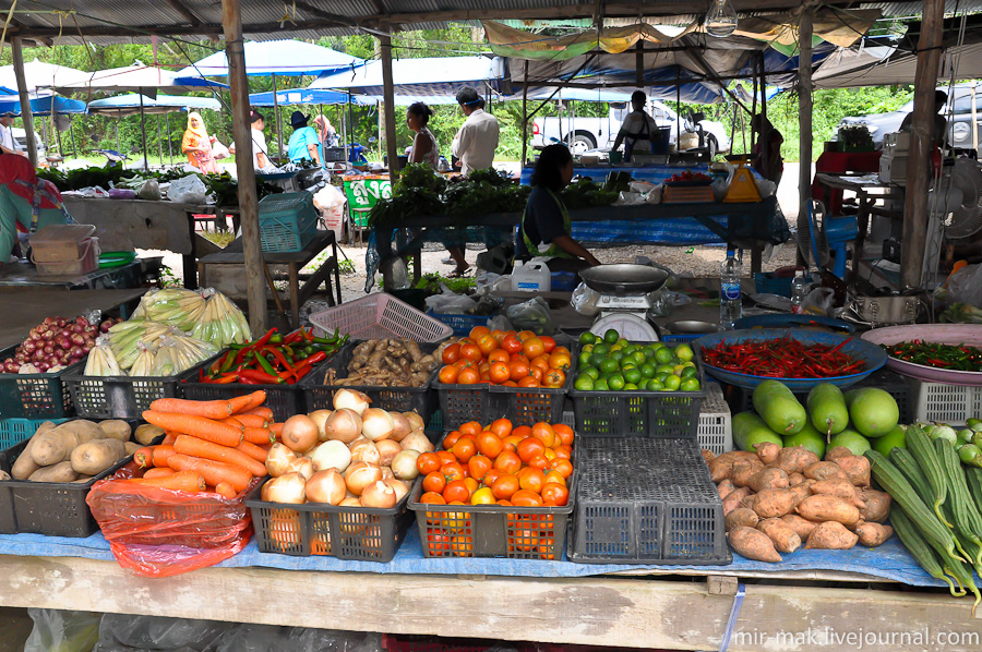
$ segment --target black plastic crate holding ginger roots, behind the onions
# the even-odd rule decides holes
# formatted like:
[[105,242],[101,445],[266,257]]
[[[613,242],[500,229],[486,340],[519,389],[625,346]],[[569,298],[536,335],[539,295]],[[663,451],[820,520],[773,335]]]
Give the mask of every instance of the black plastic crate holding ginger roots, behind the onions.
[[[433,390],[433,382],[436,379],[439,366],[430,374],[430,378],[422,387],[373,387],[368,385],[327,385],[326,376],[333,370],[337,377],[348,375],[348,363],[355,352],[355,347],[364,340],[350,341],[342,348],[327,363],[315,370],[300,381],[303,395],[307,400],[307,410],[333,410],[334,393],[342,388],[356,389],[368,395],[372,399],[373,408],[395,412],[416,412],[423,423],[429,423],[430,418],[436,411],[436,393]],[[432,353],[438,345],[420,343],[423,353]]]

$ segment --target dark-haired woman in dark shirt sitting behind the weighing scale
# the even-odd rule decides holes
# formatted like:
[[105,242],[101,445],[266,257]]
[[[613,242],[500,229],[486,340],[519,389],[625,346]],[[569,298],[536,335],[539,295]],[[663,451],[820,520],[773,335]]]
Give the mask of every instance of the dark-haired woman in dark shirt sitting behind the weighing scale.
[[579,271],[600,261],[573,240],[570,213],[560,198],[573,179],[573,156],[565,145],[549,145],[532,171],[532,192],[518,228],[515,255],[548,258],[550,271]]

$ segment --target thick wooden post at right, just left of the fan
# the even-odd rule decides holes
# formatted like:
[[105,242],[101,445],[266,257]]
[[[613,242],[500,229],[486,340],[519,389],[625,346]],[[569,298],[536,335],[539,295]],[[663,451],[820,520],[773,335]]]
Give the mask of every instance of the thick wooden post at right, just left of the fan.
[[905,288],[920,288],[923,280],[927,189],[932,177],[934,86],[943,48],[944,17],[945,0],[924,0],[921,37],[918,40],[918,69],[914,73],[914,110],[910,123],[903,242],[900,247],[900,286]]

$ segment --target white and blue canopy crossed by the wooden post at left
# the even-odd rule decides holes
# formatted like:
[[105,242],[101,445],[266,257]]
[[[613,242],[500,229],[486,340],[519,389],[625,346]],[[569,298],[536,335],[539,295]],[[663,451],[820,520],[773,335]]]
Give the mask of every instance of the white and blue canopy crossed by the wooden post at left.
[[[364,59],[302,40],[250,40],[244,49],[246,74],[252,76],[319,75],[366,63]],[[225,77],[228,76],[228,58],[221,50],[178,72],[187,76]]]

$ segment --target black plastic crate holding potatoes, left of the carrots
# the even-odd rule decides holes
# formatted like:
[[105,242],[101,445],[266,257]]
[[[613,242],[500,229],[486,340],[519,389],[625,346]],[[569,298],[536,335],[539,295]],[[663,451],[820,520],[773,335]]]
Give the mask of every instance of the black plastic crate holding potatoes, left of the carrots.
[[[10,473],[27,439],[0,452],[0,470]],[[85,483],[0,481],[0,534],[34,533],[46,536],[84,538],[99,527],[85,497],[96,481],[125,466],[128,456]]]

